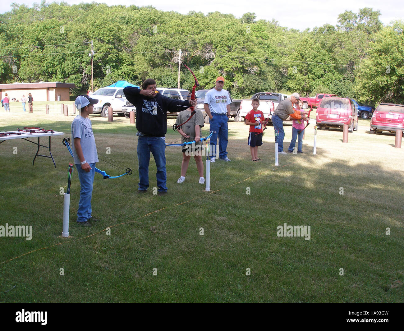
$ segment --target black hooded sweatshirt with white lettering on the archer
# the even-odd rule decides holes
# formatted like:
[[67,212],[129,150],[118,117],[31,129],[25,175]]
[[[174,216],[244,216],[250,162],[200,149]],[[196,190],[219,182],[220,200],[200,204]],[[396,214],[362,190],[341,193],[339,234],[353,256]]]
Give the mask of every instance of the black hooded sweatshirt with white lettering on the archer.
[[156,93],[154,98],[144,97],[137,87],[125,87],[124,94],[136,107],[136,129],[153,137],[166,135],[167,112],[181,112],[191,106],[188,100],[172,99],[161,93]]

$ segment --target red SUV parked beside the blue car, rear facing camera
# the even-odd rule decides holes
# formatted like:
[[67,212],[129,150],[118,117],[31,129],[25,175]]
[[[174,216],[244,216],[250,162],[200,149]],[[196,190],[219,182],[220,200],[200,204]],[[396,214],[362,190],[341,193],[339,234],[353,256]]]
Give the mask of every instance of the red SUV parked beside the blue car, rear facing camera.
[[343,129],[349,125],[349,131],[358,130],[358,110],[351,99],[327,97],[317,107],[316,124],[322,128],[337,127]]

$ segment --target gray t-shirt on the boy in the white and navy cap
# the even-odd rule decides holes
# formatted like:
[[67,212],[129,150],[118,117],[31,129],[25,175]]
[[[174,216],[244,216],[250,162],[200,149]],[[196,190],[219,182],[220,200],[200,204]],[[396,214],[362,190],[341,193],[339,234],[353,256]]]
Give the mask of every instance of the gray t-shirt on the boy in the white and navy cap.
[[74,164],[80,164],[81,162],[78,158],[76,148],[74,148],[74,138],[80,138],[81,149],[87,163],[98,162],[97,147],[95,146],[93,128],[89,118],[84,118],[78,115],[72,122],[72,151]]

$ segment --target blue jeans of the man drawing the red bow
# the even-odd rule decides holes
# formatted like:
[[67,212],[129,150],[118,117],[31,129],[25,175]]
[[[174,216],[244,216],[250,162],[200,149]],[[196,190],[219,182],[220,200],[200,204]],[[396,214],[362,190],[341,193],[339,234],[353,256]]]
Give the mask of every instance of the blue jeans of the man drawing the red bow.
[[162,137],[139,136],[137,159],[139,161],[139,190],[149,187],[150,152],[156,162],[158,192],[167,192],[166,141]]

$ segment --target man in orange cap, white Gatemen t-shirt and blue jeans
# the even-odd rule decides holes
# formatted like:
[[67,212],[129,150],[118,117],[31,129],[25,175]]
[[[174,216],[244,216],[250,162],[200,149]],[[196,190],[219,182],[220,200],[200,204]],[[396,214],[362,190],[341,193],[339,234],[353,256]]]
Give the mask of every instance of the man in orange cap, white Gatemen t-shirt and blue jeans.
[[227,121],[230,118],[231,98],[228,91],[223,89],[225,79],[219,76],[216,79],[216,86],[205,95],[204,109],[209,116],[210,131],[215,131],[210,138],[210,162],[217,158],[216,141],[219,138],[219,158],[223,161],[230,161],[227,157]]

